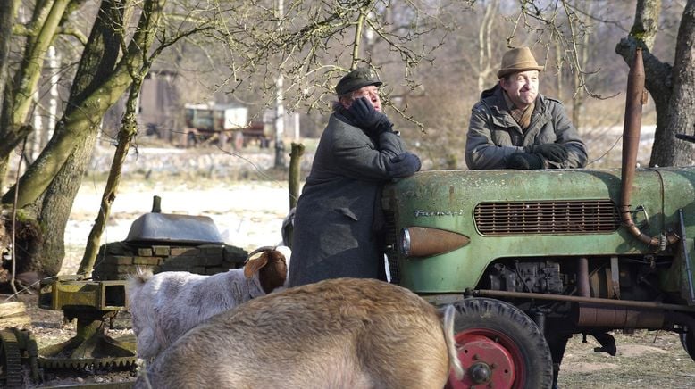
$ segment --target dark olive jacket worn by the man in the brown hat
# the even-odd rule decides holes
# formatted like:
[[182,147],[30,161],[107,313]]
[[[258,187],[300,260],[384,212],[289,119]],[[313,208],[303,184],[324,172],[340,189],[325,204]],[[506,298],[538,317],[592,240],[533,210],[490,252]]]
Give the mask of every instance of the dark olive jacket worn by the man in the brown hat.
[[523,132],[507,111],[503,89],[499,85],[481,94],[473,105],[465,143],[468,169],[505,169],[513,153],[528,152],[524,146],[558,143],[567,148],[567,160],[548,161],[541,156],[544,168],[583,168],[586,145],[567,118],[562,103],[538,95],[531,124]]

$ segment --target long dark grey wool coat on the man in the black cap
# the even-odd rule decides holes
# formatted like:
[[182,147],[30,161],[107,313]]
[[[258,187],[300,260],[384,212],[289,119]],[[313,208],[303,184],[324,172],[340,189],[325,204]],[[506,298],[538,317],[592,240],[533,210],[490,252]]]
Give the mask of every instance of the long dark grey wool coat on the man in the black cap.
[[[392,131],[378,139],[333,113],[297,201],[289,286],[326,278],[383,278],[381,238],[373,231],[390,159],[405,153]],[[375,210],[376,206],[376,210]]]

